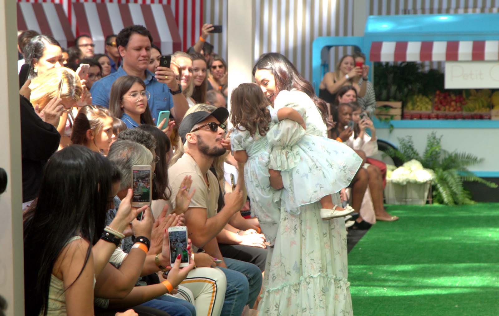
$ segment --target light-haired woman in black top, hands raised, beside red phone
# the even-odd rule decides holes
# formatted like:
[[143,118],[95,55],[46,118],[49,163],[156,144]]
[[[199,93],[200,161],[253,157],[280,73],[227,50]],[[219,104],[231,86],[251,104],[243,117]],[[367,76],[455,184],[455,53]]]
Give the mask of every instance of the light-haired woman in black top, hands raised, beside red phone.
[[[366,93],[365,82],[359,86],[357,82],[360,76],[364,75],[363,69],[355,67],[355,61],[352,55],[345,55],[341,57],[340,61],[336,64],[334,72],[327,72],[319,85],[319,98],[329,104],[333,104],[336,99],[336,93],[345,85],[350,85],[355,88],[359,96],[364,96]],[[357,79],[357,80],[356,80]]]

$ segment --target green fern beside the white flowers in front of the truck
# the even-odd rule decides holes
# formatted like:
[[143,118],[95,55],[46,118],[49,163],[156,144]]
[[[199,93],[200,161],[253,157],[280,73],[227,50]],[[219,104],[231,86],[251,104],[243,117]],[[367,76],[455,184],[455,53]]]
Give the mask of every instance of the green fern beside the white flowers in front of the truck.
[[437,203],[447,205],[475,203],[470,193],[465,190],[464,181],[475,181],[492,188],[498,187],[496,183],[478,177],[468,170],[469,166],[480,163],[483,158],[442,149],[442,136],[437,137],[436,132],[428,135],[423,155],[414,148],[411,136],[399,138],[399,143],[397,150],[390,148],[386,154],[397,157],[403,162],[416,159],[424,168],[432,169],[435,172],[433,200]]

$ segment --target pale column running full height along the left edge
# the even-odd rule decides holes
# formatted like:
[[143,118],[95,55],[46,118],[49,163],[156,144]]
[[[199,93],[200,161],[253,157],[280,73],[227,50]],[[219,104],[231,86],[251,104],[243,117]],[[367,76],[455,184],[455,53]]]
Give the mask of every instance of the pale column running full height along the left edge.
[[0,295],[5,315],[24,315],[21,132],[17,77],[16,1],[0,1],[0,167],[7,188],[0,195]]

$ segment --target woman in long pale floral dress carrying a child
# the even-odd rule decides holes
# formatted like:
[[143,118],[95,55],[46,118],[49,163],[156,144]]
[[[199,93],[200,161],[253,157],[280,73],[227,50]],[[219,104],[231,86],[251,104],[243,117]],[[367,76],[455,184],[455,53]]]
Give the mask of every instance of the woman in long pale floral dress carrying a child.
[[[272,105],[278,95],[281,106],[305,108],[306,132],[327,137],[325,102],[285,56],[261,55],[253,76]],[[275,178],[271,176],[271,185],[278,188]],[[333,202],[340,203],[337,194]],[[320,208],[319,202],[307,204],[294,215],[281,205],[277,237],[267,255],[261,314],[353,315],[344,218],[321,220]]]

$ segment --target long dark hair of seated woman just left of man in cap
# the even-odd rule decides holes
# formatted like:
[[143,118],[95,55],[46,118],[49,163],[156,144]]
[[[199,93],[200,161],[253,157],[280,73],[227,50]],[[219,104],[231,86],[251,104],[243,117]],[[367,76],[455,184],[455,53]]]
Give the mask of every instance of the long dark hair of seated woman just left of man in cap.
[[168,200],[172,194],[168,187],[168,161],[166,154],[170,151],[170,139],[166,134],[154,125],[142,124],[137,126],[156,139],[156,156],[159,157],[154,169],[153,200]]

